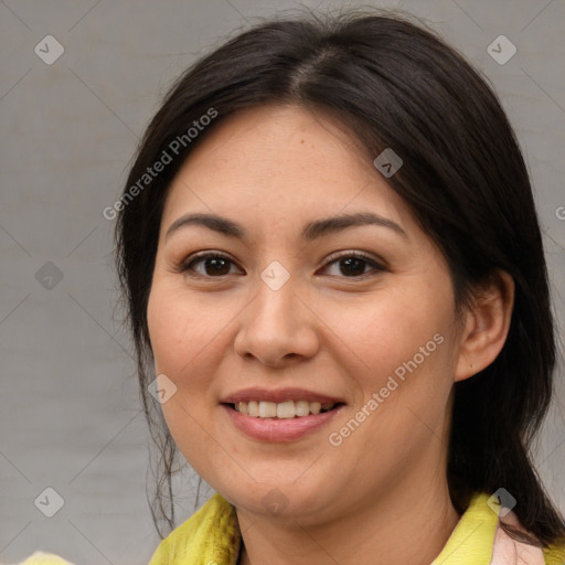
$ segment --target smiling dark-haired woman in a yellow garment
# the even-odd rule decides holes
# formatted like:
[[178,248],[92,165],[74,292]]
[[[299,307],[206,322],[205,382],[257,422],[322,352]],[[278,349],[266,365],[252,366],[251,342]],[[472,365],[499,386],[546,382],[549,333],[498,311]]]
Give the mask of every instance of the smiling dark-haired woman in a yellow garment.
[[527,172],[431,31],[239,34],[166,97],[117,211],[169,494],[177,449],[216,491],[151,565],[565,563],[529,457],[555,345]]

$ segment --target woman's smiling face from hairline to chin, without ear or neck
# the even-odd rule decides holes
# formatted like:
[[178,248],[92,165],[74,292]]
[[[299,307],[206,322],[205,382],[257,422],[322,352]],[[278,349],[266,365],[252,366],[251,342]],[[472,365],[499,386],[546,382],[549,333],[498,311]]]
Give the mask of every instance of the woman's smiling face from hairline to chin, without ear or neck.
[[[170,231],[189,214],[221,220]],[[162,215],[148,323],[174,441],[224,498],[266,516],[306,524],[414,500],[445,480],[454,308],[441,254],[331,119],[295,106],[232,116]]]

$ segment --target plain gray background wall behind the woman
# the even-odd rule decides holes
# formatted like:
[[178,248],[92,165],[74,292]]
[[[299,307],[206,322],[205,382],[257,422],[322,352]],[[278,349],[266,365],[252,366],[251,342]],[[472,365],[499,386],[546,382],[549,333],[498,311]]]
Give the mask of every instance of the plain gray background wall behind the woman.
[[[114,310],[114,222],[103,210],[118,198],[138,137],[171,81],[255,17],[298,6],[0,2],[0,562],[45,550],[77,564],[141,564],[156,550],[146,499],[150,436],[129,338]],[[371,6],[424,18],[501,96],[533,178],[563,337],[565,1]],[[64,46],[52,65],[34,52],[49,34]],[[518,47],[503,65],[487,52],[500,34]],[[563,375],[562,349],[558,397],[536,461],[565,512]],[[194,487],[190,472],[181,479],[179,523],[192,511]],[[64,500],[53,518],[34,504],[47,487]]]

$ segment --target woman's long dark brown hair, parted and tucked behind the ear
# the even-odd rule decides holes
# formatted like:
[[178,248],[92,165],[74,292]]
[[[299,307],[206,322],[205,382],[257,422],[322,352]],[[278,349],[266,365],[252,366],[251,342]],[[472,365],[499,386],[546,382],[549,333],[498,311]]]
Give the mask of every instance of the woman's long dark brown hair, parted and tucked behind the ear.
[[[177,81],[137,151],[122,196],[131,196],[147,168],[184,136],[162,172],[124,202],[115,232],[141,399],[160,448],[151,510],[161,537],[159,522],[174,527],[177,448],[147,392],[154,375],[146,315],[163,204],[171,180],[209,131],[265,104],[331,116],[371,160],[385,148],[401,156],[404,164],[388,183],[444,253],[458,311],[495,269],[512,276],[514,309],[501,353],[455,384],[450,495],[462,513],[472,492],[503,487],[543,545],[565,537],[564,519],[530,455],[552,398],[555,342],[542,236],[519,143],[487,82],[431,30],[407,15],[359,11],[270,20],[241,32]],[[188,128],[211,109],[217,117],[189,140]]]

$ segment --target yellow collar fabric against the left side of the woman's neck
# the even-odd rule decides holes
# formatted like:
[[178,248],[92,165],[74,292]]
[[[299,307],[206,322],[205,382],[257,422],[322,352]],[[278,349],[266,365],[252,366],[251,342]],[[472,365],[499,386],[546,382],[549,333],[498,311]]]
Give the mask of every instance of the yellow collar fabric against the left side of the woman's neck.
[[149,565],[193,563],[192,559],[196,558],[202,563],[210,561],[232,565],[237,559],[239,544],[241,533],[234,507],[215,493],[159,544]]

